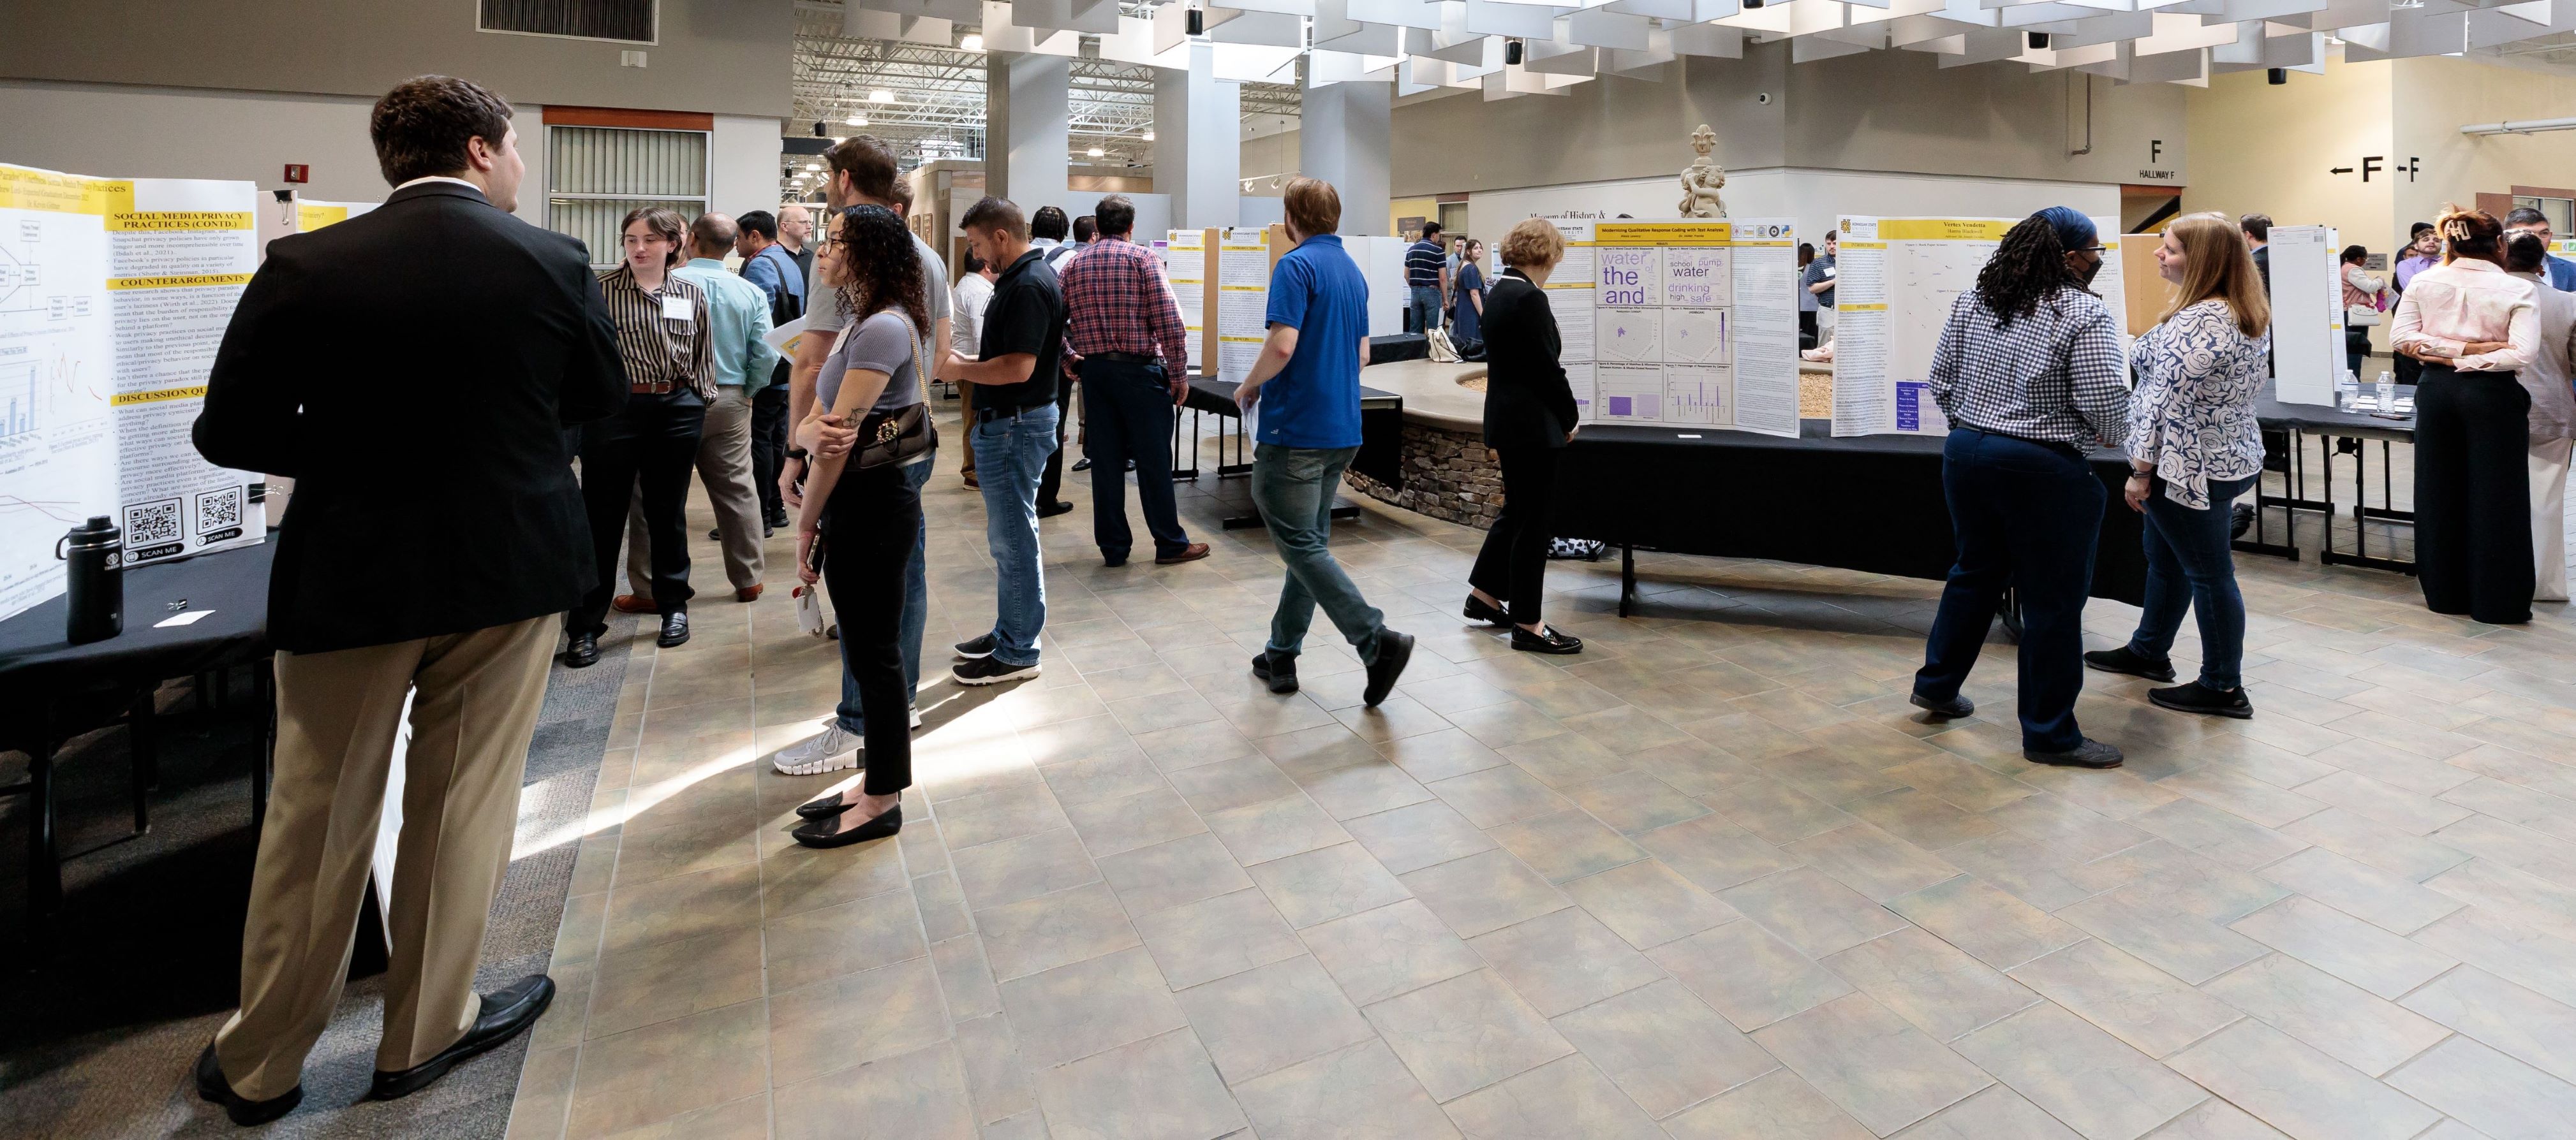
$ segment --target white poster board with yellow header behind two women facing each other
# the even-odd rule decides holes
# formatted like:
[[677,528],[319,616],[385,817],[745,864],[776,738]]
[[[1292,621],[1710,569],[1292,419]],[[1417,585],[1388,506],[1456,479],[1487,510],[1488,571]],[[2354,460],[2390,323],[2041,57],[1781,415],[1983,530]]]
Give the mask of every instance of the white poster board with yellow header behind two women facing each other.
[[[1834,257],[1834,435],[1950,435],[1932,401],[1932,350],[1950,304],[2022,219],[1837,219]],[[2123,324],[2128,288],[2117,219],[2092,219],[2102,270],[2092,288]]]

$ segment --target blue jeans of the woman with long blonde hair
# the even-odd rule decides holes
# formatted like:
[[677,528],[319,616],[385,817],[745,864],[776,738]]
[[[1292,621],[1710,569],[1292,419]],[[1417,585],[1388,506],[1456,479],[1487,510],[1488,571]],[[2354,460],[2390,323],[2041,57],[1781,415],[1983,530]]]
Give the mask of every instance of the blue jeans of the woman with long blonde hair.
[[2192,510],[2164,497],[2164,481],[2146,497],[2146,612],[2128,648],[2164,661],[2182,630],[2182,610],[2200,618],[2200,685],[2233,690],[2246,659],[2246,600],[2236,592],[2236,538],[2231,507],[2254,479],[2210,479],[2210,507]]

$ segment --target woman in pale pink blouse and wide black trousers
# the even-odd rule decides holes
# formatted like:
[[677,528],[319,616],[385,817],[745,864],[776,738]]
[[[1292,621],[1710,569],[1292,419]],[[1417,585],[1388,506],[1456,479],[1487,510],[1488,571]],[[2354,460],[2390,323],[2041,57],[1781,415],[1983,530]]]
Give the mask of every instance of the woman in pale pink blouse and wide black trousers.
[[2532,620],[2524,427],[2514,373],[2540,350],[2530,280],[2504,273],[2504,224],[2445,211],[2442,265],[2398,299],[2388,342],[2421,360],[2416,386],[2416,582],[2432,612]]

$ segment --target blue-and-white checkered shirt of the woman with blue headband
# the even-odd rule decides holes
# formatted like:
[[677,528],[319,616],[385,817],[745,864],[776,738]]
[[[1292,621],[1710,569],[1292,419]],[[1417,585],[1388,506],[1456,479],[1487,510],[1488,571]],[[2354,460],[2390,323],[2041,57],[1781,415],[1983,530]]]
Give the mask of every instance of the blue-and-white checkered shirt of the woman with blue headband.
[[2128,360],[2099,296],[2061,288],[1996,327],[1971,288],[1950,304],[1932,350],[1932,401],[1955,427],[2092,450],[2128,437]]

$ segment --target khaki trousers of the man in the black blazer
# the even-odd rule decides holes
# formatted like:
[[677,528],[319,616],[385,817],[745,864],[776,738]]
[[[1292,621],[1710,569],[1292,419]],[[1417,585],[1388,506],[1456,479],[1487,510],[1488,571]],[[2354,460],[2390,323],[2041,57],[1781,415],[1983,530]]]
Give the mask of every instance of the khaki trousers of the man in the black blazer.
[[420,1065],[474,1024],[474,962],[510,867],[559,623],[278,654],[276,790],[242,924],[242,1009],[214,1034],[232,1091],[265,1101],[294,1089],[340,1004],[415,685],[376,1068]]

